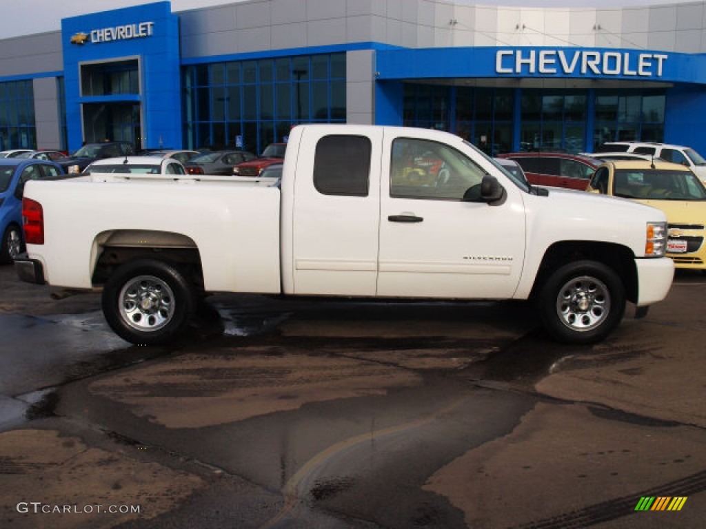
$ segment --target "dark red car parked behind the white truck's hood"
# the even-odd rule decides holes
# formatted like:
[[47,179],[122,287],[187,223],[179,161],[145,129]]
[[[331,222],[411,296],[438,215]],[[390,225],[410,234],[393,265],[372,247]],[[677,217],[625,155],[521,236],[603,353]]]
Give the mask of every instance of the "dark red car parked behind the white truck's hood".
[[533,186],[585,190],[600,160],[567,152],[508,152],[498,158],[515,160]]

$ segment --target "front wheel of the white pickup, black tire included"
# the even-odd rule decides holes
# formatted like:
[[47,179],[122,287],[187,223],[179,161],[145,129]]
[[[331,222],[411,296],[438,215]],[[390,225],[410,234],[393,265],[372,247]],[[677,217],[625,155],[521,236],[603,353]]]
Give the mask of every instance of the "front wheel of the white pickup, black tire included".
[[616,272],[595,261],[570,262],[556,269],[539,295],[547,332],[565,343],[594,343],[623,319],[625,287]]

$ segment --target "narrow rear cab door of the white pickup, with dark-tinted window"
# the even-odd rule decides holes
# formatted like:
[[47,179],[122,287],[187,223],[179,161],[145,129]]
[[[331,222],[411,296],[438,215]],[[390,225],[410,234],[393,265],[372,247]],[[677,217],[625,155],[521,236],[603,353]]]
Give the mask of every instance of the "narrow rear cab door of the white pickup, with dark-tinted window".
[[[285,257],[292,253],[285,262],[292,270],[283,270],[285,292],[376,295],[382,131],[347,126],[342,134],[336,126],[305,127],[299,145],[287,147],[297,165],[291,235],[288,219],[282,219],[285,241],[292,238],[291,250],[285,246]],[[289,185],[283,181],[283,195]]]

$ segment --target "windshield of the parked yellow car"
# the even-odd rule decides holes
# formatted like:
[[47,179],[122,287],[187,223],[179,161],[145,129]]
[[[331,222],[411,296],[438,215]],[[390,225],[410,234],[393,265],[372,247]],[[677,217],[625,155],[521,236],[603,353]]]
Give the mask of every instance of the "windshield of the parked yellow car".
[[706,200],[706,188],[691,171],[616,169],[616,197],[639,200]]

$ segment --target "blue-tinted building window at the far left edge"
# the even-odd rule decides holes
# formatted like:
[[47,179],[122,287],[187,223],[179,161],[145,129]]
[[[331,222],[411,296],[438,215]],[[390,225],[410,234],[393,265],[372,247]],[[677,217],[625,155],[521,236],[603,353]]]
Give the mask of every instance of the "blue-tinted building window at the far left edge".
[[36,148],[32,80],[0,83],[0,150]]

